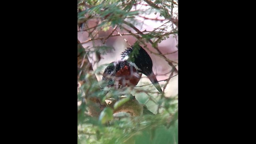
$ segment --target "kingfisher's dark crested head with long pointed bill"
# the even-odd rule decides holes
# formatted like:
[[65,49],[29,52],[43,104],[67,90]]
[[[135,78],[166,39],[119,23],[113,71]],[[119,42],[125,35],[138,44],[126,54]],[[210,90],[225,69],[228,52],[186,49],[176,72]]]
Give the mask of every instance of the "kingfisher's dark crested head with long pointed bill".
[[124,52],[122,52],[122,59],[128,60],[130,64],[138,70],[138,72],[145,74],[150,79],[152,84],[154,84],[156,89],[162,93],[161,86],[158,83],[154,72],[152,71],[152,60],[146,50],[139,45],[132,46],[132,48],[127,48]]

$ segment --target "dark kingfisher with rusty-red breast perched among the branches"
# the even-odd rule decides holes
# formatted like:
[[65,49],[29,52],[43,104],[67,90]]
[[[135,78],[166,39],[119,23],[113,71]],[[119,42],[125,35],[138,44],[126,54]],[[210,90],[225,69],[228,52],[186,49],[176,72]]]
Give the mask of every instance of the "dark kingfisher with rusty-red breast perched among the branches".
[[138,84],[142,74],[145,74],[154,84],[156,89],[162,93],[162,89],[154,72],[152,71],[152,59],[140,45],[126,48],[121,54],[121,60],[111,62],[104,70],[102,82],[106,87],[122,89]]

